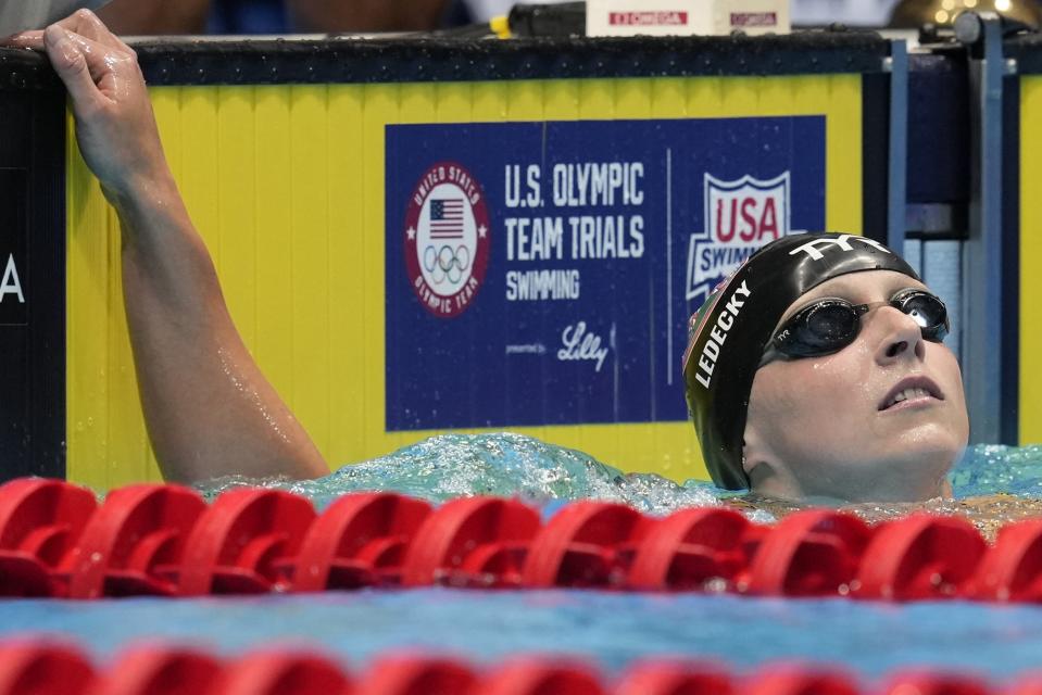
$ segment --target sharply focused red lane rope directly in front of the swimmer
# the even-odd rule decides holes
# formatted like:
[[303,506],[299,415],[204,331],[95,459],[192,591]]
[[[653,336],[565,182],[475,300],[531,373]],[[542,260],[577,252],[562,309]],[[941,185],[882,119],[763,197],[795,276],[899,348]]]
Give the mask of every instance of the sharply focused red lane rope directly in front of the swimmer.
[[363,586],[594,587],[1042,599],[1042,520],[988,544],[961,517],[868,526],[828,509],[773,526],[724,508],[665,518],[577,502],[545,523],[516,500],[438,508],[394,493],[305,497],[241,489],[212,504],[178,485],[130,485],[100,506],[61,480],[0,485],[0,596],[200,596]]

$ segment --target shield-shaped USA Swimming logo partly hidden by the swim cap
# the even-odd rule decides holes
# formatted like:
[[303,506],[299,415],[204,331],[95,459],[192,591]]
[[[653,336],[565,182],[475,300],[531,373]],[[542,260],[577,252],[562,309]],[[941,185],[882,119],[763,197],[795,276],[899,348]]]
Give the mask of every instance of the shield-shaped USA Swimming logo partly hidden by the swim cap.
[[704,175],[702,231],[688,242],[689,302],[705,301],[710,291],[745,258],[789,228],[789,172],[768,180],[745,175],[733,181]]

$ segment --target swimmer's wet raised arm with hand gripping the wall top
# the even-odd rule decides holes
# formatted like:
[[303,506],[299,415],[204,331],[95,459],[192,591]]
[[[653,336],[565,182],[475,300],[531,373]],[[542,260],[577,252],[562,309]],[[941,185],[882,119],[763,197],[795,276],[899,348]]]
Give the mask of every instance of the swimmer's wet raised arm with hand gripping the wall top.
[[167,480],[329,472],[231,321],[171,174],[135,52],[80,10],[16,41],[65,83],[84,160],[123,230],[123,288],[149,437]]

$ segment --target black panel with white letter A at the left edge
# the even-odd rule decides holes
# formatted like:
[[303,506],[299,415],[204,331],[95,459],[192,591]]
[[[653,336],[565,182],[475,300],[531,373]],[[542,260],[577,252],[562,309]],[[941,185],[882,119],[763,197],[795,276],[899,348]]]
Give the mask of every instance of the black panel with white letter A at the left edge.
[[64,91],[0,61],[0,479],[65,475]]

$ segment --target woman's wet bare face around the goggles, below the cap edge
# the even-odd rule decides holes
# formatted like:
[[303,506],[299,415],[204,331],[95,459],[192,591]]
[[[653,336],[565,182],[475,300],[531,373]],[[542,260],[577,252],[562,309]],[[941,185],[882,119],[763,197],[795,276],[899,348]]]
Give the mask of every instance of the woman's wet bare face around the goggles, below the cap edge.
[[[867,304],[906,288],[925,286],[893,270],[843,275],[800,298],[779,326],[817,299]],[[907,397],[894,403],[899,392]],[[854,342],[839,352],[758,369],[746,470],[755,491],[784,497],[926,500],[945,491],[944,476],[968,434],[955,355],[884,305],[861,317]]]

